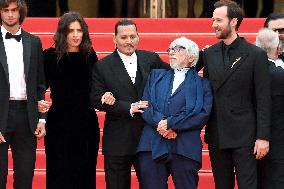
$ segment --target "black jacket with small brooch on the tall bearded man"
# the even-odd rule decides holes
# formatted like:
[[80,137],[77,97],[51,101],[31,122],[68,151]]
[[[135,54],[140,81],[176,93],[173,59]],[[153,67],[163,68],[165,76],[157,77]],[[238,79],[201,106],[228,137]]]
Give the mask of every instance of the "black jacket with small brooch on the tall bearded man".
[[[221,149],[250,147],[270,138],[270,80],[264,51],[243,38],[229,66],[224,66],[222,42],[203,52],[204,76],[213,89],[213,107],[205,141]],[[198,65],[198,67],[202,67]]]

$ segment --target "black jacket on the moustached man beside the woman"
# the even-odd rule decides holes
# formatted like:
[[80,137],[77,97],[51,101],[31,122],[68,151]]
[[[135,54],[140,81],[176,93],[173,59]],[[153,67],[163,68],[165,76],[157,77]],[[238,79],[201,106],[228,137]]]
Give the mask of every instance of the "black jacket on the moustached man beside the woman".
[[[137,74],[132,83],[124,64],[115,50],[98,61],[93,69],[91,103],[106,112],[103,135],[103,154],[113,156],[134,155],[144,121],[140,114],[130,115],[131,103],[141,100],[145,82],[151,69],[169,68],[156,53],[137,50]],[[113,106],[102,105],[101,97],[112,92]]]

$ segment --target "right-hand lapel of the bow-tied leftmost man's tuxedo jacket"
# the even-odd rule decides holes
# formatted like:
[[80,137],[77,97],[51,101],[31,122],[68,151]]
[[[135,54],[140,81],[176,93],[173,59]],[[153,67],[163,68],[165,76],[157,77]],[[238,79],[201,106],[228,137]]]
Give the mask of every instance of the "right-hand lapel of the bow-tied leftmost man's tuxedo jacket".
[[25,72],[25,79],[27,81],[29,74],[29,67],[30,67],[30,57],[31,57],[31,38],[24,30],[22,30],[22,43],[23,43],[24,72]]

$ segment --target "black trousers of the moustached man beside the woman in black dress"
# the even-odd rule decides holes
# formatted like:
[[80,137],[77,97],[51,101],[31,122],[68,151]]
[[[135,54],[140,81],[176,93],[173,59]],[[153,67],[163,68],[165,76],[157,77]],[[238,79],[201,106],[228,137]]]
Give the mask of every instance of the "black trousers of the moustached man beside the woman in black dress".
[[[106,189],[130,189],[131,166],[135,168],[140,183],[137,156],[104,156]],[[142,188],[139,186],[139,188]]]

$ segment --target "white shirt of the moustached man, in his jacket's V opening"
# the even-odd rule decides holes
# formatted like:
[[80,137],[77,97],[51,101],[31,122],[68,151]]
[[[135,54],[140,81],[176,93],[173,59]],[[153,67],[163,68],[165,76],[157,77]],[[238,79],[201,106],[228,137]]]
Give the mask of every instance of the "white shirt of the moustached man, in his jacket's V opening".
[[120,56],[124,67],[131,78],[132,83],[135,83],[135,78],[136,78],[136,72],[137,72],[137,55],[134,52],[131,56],[127,56],[125,54],[122,54],[117,50],[118,55]]

